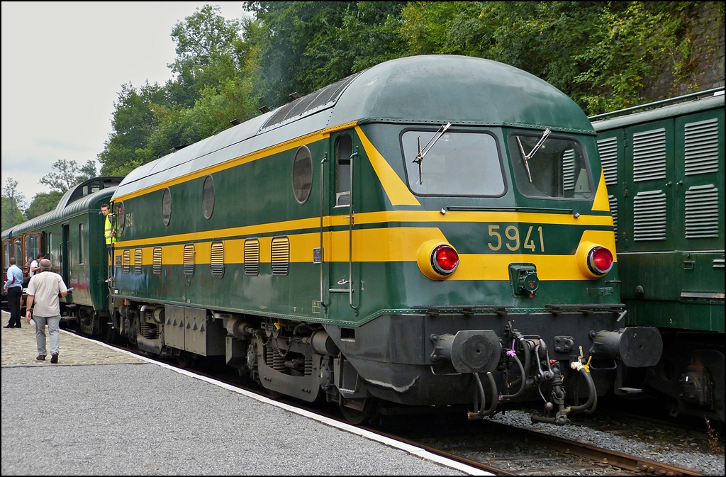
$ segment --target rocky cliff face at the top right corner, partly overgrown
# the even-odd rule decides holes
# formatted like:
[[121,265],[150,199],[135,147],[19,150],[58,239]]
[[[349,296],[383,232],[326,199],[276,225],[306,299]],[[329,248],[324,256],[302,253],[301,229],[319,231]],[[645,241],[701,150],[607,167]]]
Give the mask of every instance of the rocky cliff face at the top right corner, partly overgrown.
[[[661,73],[646,83],[643,96],[648,101],[724,86],[724,23],[716,2],[701,2],[685,37],[692,42],[693,56],[684,61],[682,54],[674,54],[673,62],[664,64]],[[690,73],[681,80],[675,78],[674,62],[683,62]]]

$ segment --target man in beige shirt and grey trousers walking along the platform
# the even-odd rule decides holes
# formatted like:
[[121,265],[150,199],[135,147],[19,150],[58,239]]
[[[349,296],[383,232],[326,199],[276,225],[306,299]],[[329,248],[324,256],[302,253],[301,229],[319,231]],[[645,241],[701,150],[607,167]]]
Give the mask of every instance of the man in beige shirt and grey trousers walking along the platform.
[[[28,282],[28,302],[25,318],[35,319],[36,322],[36,344],[38,345],[38,361],[44,361],[46,355],[45,327],[48,325],[50,335],[50,362],[58,362],[60,348],[60,299],[68,295],[68,288],[65,286],[62,277],[50,271],[50,260],[41,260],[41,271]],[[35,308],[30,307],[35,303]]]

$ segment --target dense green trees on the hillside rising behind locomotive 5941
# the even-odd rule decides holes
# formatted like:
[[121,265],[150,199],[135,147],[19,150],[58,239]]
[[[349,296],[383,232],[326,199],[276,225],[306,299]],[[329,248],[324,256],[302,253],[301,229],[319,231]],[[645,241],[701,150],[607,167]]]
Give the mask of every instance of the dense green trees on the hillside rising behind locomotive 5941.
[[[723,25],[723,4],[711,2]],[[103,174],[136,166],[380,62],[463,54],[513,65],[588,115],[640,104],[653,78],[698,85],[696,14],[704,2],[250,1],[224,20],[205,5],[176,23],[166,85],[121,86]],[[715,6],[715,7],[714,7]],[[711,14],[712,14],[711,13]],[[717,49],[719,32],[699,48]],[[710,38],[710,37],[709,37]]]

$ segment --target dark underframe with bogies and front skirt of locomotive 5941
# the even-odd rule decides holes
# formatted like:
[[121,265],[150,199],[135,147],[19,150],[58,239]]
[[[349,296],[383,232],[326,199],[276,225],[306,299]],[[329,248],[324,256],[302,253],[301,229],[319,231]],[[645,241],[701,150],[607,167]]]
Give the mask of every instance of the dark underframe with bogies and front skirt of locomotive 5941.
[[[505,401],[544,399],[547,403],[556,394],[553,389],[560,386],[565,391],[559,394],[560,401],[566,397],[577,405],[591,397],[589,384],[602,396],[620,381],[624,368],[619,356],[605,356],[597,349],[598,333],[619,325],[616,309],[383,315],[351,328],[185,306],[121,301],[118,305],[119,331],[150,354],[224,355],[229,366],[261,383],[273,396],[327,399],[354,409],[362,409],[370,399],[408,406],[470,407],[474,403],[476,407],[483,389],[478,372],[492,372],[489,383],[495,383],[495,388],[484,380],[488,396],[503,394]],[[468,364],[437,355],[441,337],[460,333],[494,337],[489,350],[484,349],[486,342],[476,342],[476,353],[482,348],[492,358],[481,362],[481,369],[461,372]],[[517,340],[534,344],[515,346]],[[525,354],[531,354],[531,362]],[[578,375],[582,372],[571,369],[571,363],[584,364],[598,354],[590,362],[592,382],[587,383]],[[526,386],[521,362],[528,363]],[[542,370],[547,368],[550,375],[545,378]],[[492,399],[489,403],[493,404]]]

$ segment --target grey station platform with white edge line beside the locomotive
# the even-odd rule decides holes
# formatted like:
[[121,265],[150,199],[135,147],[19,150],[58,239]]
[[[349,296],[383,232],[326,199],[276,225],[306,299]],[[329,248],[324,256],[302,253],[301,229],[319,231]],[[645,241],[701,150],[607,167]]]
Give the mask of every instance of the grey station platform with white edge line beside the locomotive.
[[63,330],[38,362],[33,322],[1,330],[2,475],[491,475]]

